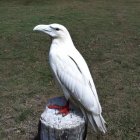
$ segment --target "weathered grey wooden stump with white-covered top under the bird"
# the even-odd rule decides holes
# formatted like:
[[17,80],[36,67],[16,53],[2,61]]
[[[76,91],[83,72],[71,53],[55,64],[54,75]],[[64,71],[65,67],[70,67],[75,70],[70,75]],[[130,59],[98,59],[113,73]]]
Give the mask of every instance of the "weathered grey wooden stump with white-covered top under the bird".
[[[49,99],[48,105],[56,104],[64,106],[66,99],[64,97],[56,97]],[[81,111],[70,105],[70,113],[66,116],[57,114],[58,110],[46,109],[41,115],[41,140],[85,140],[86,123]]]

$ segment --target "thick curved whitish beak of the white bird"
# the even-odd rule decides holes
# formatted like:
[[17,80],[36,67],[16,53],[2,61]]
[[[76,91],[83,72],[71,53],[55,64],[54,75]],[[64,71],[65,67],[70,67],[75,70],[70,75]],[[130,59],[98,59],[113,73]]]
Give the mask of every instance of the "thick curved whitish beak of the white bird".
[[49,25],[37,25],[34,27],[33,31],[50,32]]

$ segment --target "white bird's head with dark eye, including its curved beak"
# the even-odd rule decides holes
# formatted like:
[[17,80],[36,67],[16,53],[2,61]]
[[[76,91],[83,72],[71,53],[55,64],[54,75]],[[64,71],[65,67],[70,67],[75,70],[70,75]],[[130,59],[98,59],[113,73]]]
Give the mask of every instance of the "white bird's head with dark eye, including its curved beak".
[[68,30],[63,25],[56,23],[49,25],[40,24],[35,26],[33,30],[44,32],[52,38],[65,38],[69,36]]

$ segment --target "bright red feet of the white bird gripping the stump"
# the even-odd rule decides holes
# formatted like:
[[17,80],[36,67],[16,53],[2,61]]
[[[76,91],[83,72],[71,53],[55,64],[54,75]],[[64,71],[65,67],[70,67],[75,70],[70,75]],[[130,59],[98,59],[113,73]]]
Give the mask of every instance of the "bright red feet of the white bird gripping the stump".
[[69,114],[69,111],[70,111],[69,102],[67,102],[65,106],[49,105],[48,108],[49,109],[57,109],[58,114],[62,114],[63,116],[66,116],[67,114]]

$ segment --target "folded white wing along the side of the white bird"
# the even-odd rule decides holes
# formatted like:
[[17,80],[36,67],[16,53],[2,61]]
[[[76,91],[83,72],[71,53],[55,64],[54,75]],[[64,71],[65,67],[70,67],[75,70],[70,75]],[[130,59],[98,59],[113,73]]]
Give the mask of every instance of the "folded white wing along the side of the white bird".
[[[73,55],[61,54],[53,57],[50,63],[56,78],[70,96],[78,100],[87,110],[100,114],[101,107],[96,90],[93,90],[90,74],[85,73],[89,72],[88,67],[83,59],[80,61],[82,62],[79,63]],[[83,66],[87,67],[86,70]]]

